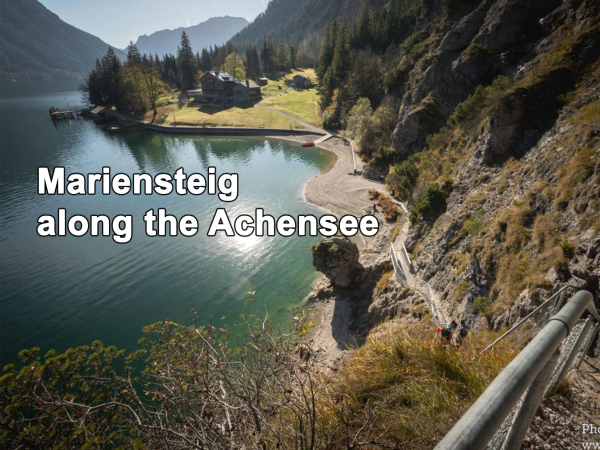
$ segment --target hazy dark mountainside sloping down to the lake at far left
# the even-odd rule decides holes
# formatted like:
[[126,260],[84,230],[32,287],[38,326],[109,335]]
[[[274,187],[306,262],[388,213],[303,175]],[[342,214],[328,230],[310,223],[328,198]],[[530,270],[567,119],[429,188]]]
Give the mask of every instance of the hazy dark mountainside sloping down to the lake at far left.
[[[63,22],[37,0],[0,2],[0,71],[3,78],[86,74],[108,44]],[[117,51],[119,57],[124,57]]]

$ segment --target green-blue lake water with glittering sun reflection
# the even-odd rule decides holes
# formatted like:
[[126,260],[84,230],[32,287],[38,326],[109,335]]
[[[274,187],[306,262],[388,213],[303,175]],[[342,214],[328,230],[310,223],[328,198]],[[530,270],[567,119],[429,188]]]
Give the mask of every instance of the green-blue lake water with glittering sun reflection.
[[[16,360],[22,348],[42,351],[100,339],[135,347],[142,327],[160,320],[237,320],[252,306],[266,306],[278,321],[310,291],[316,272],[309,247],[314,237],[207,237],[218,207],[230,217],[257,207],[275,217],[316,214],[302,202],[304,183],[328,170],[333,156],[319,149],[262,138],[172,137],[141,132],[110,135],[90,121],[54,124],[50,106],[81,104],[68,83],[2,89],[0,98],[0,358]],[[64,166],[66,173],[239,174],[239,197],[94,195],[40,196],[38,166]],[[166,208],[193,214],[194,237],[147,237],[143,214]],[[133,215],[133,240],[108,237],[39,237],[37,219],[81,214]],[[254,301],[244,306],[248,291]],[[221,322],[221,317],[226,318]]]

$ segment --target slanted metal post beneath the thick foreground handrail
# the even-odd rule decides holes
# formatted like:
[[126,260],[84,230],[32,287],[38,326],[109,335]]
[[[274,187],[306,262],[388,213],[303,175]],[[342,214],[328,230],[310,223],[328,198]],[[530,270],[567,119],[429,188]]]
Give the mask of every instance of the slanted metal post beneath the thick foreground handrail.
[[521,444],[523,444],[527,435],[527,430],[531,426],[533,416],[542,403],[548,383],[552,379],[559,356],[560,350],[556,350],[542,371],[535,377],[533,383],[531,383],[529,390],[525,394],[521,408],[513,418],[513,423],[508,430],[502,450],[519,450],[521,448]]

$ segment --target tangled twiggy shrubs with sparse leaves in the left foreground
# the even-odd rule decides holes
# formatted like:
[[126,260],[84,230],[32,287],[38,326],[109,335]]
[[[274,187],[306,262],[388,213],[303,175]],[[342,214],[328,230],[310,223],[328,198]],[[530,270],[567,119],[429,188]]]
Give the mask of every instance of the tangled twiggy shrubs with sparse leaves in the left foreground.
[[[159,322],[144,328],[145,350],[133,353],[99,341],[43,359],[39,349],[21,352],[20,367],[0,377],[0,447],[262,448],[314,439],[314,410],[300,400],[317,394],[314,358],[269,316],[242,320],[235,331]],[[290,331],[311,327],[298,321]]]

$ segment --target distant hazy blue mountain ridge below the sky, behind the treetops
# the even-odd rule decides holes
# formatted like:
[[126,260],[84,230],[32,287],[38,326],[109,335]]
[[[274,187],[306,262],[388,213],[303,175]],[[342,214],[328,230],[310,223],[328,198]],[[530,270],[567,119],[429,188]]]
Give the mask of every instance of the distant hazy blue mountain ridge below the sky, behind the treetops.
[[142,54],[164,56],[176,54],[181,33],[185,31],[190,38],[192,47],[197,51],[209,48],[211,45],[223,45],[229,38],[248,25],[243,17],[212,17],[206,22],[191,27],[181,27],[175,30],[162,30],[151,35],[140,36],[136,45]]

